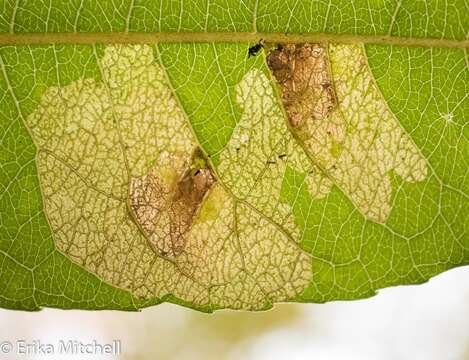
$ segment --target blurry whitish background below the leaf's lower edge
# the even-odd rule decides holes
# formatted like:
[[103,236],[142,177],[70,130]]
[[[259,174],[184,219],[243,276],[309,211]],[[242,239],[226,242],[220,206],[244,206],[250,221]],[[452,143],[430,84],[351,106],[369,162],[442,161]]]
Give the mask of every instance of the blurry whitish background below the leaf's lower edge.
[[469,267],[373,298],[277,305],[263,313],[201,314],[170,304],[140,313],[0,311],[0,341],[106,343],[115,356],[0,359],[469,360]]

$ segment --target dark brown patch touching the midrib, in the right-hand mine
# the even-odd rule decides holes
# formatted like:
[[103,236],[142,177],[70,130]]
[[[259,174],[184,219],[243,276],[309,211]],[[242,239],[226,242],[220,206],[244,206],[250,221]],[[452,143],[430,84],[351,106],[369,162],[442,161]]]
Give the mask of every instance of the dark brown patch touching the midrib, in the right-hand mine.
[[279,44],[267,64],[281,86],[293,127],[325,118],[337,104],[327,50],[319,44]]

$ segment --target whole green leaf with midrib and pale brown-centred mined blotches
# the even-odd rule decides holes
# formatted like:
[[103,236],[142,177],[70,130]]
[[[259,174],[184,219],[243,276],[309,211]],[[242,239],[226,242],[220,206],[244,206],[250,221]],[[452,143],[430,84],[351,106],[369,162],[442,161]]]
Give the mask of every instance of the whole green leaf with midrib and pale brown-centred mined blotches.
[[0,307],[261,310],[469,263],[464,2],[2,6]]

